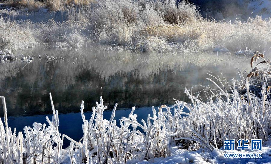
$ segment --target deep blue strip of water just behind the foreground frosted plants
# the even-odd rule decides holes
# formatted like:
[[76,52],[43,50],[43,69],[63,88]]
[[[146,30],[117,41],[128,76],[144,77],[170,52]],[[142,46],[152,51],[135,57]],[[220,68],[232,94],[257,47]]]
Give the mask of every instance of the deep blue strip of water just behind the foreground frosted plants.
[[[156,108],[157,109],[157,108]],[[128,117],[131,112],[131,109],[118,109],[115,113],[115,120],[117,121],[117,125],[120,125],[120,119],[122,117]],[[186,110],[186,112],[188,112]],[[133,114],[138,115],[137,119],[141,122],[142,119],[146,120],[148,114],[151,113],[152,116],[152,108],[137,108]],[[109,120],[112,114],[112,110],[105,110],[103,115],[104,119]],[[86,119],[89,120],[92,112],[84,112]],[[30,126],[32,128],[33,123],[36,121],[41,124],[48,125],[45,117],[48,116],[51,120],[52,115],[33,115],[33,116],[9,116],[8,117],[8,126],[11,127],[13,130],[16,128],[16,132],[23,131],[25,126]],[[80,112],[72,112],[67,114],[59,114],[59,132],[61,134],[66,134],[71,137],[73,140],[79,141],[81,137],[83,137],[83,130],[82,130],[82,117]],[[1,117],[4,120],[3,117]],[[140,131],[142,129],[139,128]],[[63,143],[63,147],[67,147],[70,145],[70,141],[65,139]]]

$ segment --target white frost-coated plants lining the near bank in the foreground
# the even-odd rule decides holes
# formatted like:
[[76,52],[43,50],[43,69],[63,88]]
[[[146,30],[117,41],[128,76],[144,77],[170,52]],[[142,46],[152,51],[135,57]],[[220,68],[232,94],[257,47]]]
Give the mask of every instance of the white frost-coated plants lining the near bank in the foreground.
[[[208,80],[214,83],[215,78]],[[207,101],[185,89],[190,103],[176,100],[173,106],[153,107],[153,114],[147,120],[137,120],[133,114],[135,107],[128,116],[115,120],[117,104],[111,118],[104,119],[107,106],[102,97],[86,120],[82,101],[83,136],[79,141],[59,133],[58,111],[51,94],[53,116],[51,120],[46,117],[48,126],[35,122],[33,127],[24,128],[24,135],[22,132],[16,135],[16,129],[8,127],[5,99],[1,97],[5,127],[1,120],[0,158],[3,163],[133,163],[170,157],[175,154],[172,147],[176,146],[183,151],[221,153],[224,139],[262,139],[265,144],[271,137],[270,83],[262,83],[262,96],[251,93],[249,83],[244,86],[247,92],[239,94],[236,84],[241,83],[232,79],[230,87],[217,85],[218,89],[211,89]],[[71,141],[66,149],[62,147],[64,138]],[[205,158],[208,161],[207,155]]]

